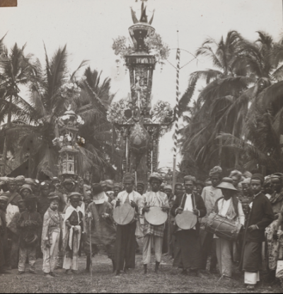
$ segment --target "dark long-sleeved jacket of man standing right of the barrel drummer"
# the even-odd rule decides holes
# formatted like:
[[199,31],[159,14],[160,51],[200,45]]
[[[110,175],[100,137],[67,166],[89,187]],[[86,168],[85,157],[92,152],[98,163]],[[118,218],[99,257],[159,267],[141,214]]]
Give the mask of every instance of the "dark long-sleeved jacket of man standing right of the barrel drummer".
[[[275,219],[270,200],[265,194],[260,193],[253,200],[253,207],[248,215],[246,226],[246,242],[264,242],[265,228],[268,227]],[[257,225],[260,230],[248,232],[248,227]]]

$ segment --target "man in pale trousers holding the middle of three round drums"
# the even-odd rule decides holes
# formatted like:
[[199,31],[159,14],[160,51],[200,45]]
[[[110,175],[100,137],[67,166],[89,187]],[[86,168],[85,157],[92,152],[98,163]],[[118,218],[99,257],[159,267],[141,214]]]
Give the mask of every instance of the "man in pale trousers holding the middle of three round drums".
[[[155,272],[158,273],[162,257],[162,244],[164,235],[164,223],[168,218],[169,203],[166,193],[160,191],[162,178],[160,174],[153,173],[149,176],[151,191],[144,194],[144,273],[147,273],[147,265],[151,262],[151,247],[154,244],[156,256]],[[157,208],[156,208],[157,207]],[[160,223],[160,221],[162,221]]]

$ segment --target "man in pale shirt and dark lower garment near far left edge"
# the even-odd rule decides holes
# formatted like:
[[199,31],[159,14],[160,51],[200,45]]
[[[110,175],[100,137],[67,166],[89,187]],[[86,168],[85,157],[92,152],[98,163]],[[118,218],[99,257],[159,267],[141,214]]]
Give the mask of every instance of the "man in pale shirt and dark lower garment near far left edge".
[[[18,203],[22,200],[20,194],[17,192],[17,186],[16,186],[16,180],[15,179],[8,179],[7,181],[7,188],[8,192],[5,194],[5,196],[8,196],[8,204],[6,208],[6,224],[7,227],[10,225],[10,222],[13,220],[14,215],[19,213],[18,209]],[[15,251],[12,251],[12,243],[13,243],[13,232],[11,232],[10,229],[7,229],[7,237],[8,237],[8,246],[6,248],[6,266],[8,269],[12,268],[12,263],[14,264]]]

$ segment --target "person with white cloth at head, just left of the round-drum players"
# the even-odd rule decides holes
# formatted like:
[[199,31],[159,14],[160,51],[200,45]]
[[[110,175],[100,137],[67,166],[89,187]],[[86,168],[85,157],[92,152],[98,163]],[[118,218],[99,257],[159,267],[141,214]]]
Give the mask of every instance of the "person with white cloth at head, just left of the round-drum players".
[[112,260],[114,272],[116,227],[112,218],[113,206],[106,200],[100,183],[93,183],[91,192],[93,202],[86,209],[86,271],[91,269],[91,258],[98,254],[98,245],[103,245],[108,258]]

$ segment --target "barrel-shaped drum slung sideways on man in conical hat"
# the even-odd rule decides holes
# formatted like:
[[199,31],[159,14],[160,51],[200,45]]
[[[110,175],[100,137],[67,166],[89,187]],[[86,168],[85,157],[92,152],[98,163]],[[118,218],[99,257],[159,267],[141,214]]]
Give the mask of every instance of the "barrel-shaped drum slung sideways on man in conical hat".
[[241,231],[241,224],[235,224],[221,215],[211,213],[207,218],[205,230],[230,241],[236,241]]

